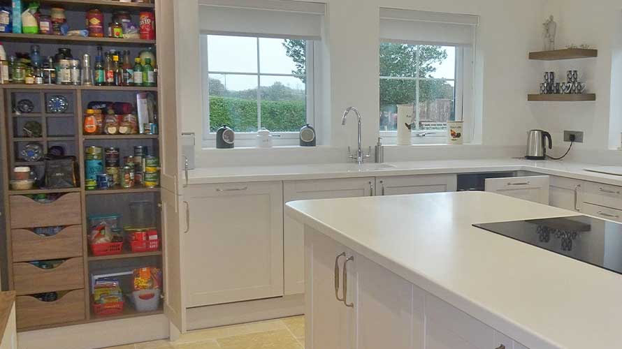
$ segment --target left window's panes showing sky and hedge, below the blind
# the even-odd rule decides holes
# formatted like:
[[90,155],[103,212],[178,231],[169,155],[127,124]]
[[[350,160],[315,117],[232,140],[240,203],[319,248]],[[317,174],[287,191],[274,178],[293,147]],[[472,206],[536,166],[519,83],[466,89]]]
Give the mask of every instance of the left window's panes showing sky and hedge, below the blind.
[[[297,133],[312,123],[307,40],[205,35],[210,133]],[[308,93],[309,91],[309,93]]]

